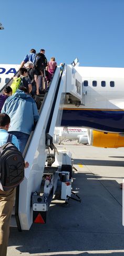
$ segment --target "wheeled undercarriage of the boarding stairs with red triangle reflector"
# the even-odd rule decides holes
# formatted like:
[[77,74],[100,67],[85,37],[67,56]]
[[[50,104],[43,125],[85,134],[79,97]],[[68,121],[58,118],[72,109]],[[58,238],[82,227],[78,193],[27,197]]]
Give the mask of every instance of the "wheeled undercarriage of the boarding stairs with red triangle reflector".
[[59,189],[61,200],[67,202],[68,198],[71,197],[72,165],[70,152],[59,150],[55,154],[55,161],[50,162],[51,166],[47,163],[49,163],[49,157],[44,169],[40,191],[32,194],[34,223],[46,223],[46,214],[56,188]]

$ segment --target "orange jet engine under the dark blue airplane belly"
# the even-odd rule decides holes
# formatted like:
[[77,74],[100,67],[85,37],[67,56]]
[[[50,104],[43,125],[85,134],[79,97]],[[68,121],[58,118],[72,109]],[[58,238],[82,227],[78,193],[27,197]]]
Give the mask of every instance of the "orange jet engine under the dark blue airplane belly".
[[113,134],[88,129],[88,143],[95,147],[119,148],[124,147],[124,134]]

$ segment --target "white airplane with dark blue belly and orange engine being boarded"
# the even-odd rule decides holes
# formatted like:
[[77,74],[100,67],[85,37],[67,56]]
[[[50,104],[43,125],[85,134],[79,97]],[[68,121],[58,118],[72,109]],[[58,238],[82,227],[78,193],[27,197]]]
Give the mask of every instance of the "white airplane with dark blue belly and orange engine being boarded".
[[[0,89],[19,64],[0,64]],[[67,65],[61,127],[87,128],[89,145],[124,146],[124,68]],[[112,134],[111,134],[112,133]]]

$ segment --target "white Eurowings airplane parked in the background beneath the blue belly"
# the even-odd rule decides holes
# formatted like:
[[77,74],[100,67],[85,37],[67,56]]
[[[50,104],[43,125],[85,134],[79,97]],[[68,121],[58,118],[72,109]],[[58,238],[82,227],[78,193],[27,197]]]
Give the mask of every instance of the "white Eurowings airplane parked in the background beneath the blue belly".
[[60,144],[63,140],[77,140],[80,144],[88,144],[87,129],[79,127],[55,127],[54,143]]

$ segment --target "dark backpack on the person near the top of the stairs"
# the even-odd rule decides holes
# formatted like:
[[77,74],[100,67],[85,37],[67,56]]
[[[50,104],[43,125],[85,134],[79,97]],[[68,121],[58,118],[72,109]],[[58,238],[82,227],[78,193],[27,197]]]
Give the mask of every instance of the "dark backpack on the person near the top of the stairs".
[[46,61],[45,61],[45,55],[43,53],[37,53],[36,54],[36,61],[35,61],[35,69],[38,71],[42,71],[46,68]]

